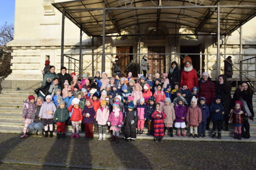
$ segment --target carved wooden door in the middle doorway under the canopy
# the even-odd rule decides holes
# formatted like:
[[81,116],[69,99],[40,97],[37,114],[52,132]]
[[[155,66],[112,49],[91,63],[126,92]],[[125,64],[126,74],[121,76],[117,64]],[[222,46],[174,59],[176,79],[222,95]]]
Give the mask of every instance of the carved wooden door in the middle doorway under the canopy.
[[164,58],[165,55],[159,55],[154,53],[165,53],[165,47],[148,47],[148,63],[149,63],[149,71],[153,77],[155,77],[155,73],[159,73],[162,75],[164,73]]

